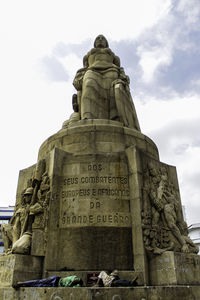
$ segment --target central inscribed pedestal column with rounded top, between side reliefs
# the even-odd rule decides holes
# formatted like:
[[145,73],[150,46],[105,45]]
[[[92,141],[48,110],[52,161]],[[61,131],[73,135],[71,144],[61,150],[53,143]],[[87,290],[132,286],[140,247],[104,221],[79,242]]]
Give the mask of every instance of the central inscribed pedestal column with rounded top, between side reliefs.
[[52,193],[44,270],[135,270],[148,282],[139,151],[158,159],[149,138],[108,120],[76,122],[42,144]]

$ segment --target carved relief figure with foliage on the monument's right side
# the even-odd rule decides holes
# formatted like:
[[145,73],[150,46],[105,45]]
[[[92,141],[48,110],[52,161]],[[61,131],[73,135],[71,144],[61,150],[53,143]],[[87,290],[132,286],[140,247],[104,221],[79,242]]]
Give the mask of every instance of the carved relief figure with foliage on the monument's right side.
[[149,197],[148,214],[147,210],[146,213],[143,212],[143,233],[147,249],[156,254],[173,249],[171,232],[178,241],[181,252],[198,253],[197,247],[187,236],[179,194],[170,182],[166,168],[155,168],[148,164],[144,178],[144,190]]

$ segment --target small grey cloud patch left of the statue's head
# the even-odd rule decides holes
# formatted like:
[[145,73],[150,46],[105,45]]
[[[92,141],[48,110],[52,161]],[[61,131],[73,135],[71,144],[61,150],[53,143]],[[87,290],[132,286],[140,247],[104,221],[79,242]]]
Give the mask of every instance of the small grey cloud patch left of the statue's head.
[[50,81],[67,81],[69,78],[64,66],[54,56],[42,57],[40,66],[43,74]]

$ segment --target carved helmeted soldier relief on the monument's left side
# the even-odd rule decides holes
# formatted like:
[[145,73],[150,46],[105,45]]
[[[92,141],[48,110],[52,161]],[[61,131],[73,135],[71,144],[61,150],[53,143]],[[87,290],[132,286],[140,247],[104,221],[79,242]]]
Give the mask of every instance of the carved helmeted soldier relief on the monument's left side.
[[37,223],[37,216],[46,212],[49,201],[47,196],[50,189],[49,177],[44,170],[45,162],[40,161],[36,166],[33,179],[28,180],[32,186],[22,192],[21,203],[16,207],[10,223],[2,226],[6,254],[29,254],[30,252],[33,225]]

